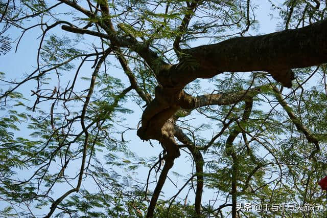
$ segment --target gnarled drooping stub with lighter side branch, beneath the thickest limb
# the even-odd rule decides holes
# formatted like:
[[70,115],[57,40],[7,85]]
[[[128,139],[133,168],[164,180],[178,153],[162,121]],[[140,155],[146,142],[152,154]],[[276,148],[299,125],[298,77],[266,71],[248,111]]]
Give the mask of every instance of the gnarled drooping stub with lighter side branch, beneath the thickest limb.
[[[138,129],[137,135],[144,140],[156,139],[156,134],[161,127],[170,119],[180,108],[193,110],[194,108],[207,105],[228,105],[239,101],[252,98],[259,94],[261,87],[250,90],[224,93],[208,94],[192,97],[183,91],[175,89],[165,89],[157,86],[156,98],[147,106],[142,115],[142,126]],[[169,95],[165,94],[170,92]]]

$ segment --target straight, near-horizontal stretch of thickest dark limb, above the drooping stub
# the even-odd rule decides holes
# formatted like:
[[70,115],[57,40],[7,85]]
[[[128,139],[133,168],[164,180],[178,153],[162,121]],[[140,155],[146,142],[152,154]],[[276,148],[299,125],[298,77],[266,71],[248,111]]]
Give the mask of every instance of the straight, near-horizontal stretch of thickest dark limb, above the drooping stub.
[[326,38],[327,20],[323,20],[300,29],[184,49],[181,62],[189,63],[189,67],[175,64],[158,78],[163,86],[182,89],[196,78],[211,78],[221,72],[267,71],[290,87],[291,69],[327,62]]

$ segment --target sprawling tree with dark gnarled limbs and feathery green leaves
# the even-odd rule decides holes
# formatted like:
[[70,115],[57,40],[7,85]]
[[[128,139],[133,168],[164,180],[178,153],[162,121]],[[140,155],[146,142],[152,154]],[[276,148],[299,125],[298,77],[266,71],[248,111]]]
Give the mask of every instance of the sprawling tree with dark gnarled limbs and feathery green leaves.
[[[327,166],[325,1],[271,3],[281,31],[256,36],[249,36],[258,28],[250,0],[0,5],[3,51],[11,49],[13,29],[21,30],[16,50],[27,32],[39,40],[32,72],[20,81],[2,73],[10,85],[0,96],[3,216],[35,216],[37,208],[48,211],[44,217],[322,216],[312,208],[247,211],[238,203],[324,203],[317,181]],[[201,90],[201,78],[210,92]],[[120,127],[131,102],[144,110],[137,132]],[[23,123],[29,137],[19,135]],[[160,143],[160,154],[136,157],[126,132]],[[159,199],[181,154],[190,156],[192,173],[171,199]],[[149,167],[144,186],[119,171],[140,166]],[[96,187],[83,187],[86,181]],[[195,193],[191,205],[189,192],[175,202],[185,187]],[[204,188],[225,203],[204,202]]]

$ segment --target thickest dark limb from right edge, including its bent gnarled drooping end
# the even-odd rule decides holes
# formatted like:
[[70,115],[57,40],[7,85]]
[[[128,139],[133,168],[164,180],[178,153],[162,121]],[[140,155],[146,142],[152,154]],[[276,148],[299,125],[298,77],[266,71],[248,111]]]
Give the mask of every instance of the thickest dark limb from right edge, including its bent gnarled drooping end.
[[[232,38],[182,50],[184,56],[178,64],[161,68],[155,99],[144,111],[137,135],[145,140],[160,138],[161,127],[177,110],[194,107],[197,100],[201,102],[201,98],[182,91],[196,78],[210,78],[225,71],[268,71],[284,86],[291,87],[291,69],[327,62],[325,38],[327,20],[301,29]],[[212,96],[218,102],[217,97]]]

